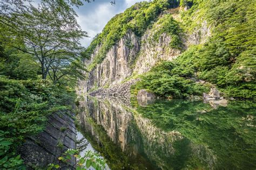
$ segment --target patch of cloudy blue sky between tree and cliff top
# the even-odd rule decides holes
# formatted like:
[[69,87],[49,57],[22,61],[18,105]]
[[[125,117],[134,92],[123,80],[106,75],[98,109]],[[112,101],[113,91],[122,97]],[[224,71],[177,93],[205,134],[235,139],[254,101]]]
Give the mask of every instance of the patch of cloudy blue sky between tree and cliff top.
[[[81,41],[82,46],[90,45],[93,37],[102,32],[106,23],[118,13],[124,12],[136,2],[146,0],[116,0],[116,4],[111,5],[112,0],[95,0],[91,3],[84,3],[79,8],[74,8],[77,12],[77,22],[86,31],[88,36]],[[149,1],[149,0],[147,0]]]

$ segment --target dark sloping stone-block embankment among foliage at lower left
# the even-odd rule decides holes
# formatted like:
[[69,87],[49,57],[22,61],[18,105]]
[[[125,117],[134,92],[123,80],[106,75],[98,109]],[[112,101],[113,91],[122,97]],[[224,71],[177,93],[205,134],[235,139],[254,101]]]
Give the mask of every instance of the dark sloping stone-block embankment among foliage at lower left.
[[[58,157],[68,148],[76,148],[75,122],[70,117],[72,112],[57,112],[48,118],[46,128],[37,136],[26,138],[19,148],[19,153],[27,169],[46,168],[49,164],[60,164]],[[72,158],[70,165],[61,169],[73,169]]]

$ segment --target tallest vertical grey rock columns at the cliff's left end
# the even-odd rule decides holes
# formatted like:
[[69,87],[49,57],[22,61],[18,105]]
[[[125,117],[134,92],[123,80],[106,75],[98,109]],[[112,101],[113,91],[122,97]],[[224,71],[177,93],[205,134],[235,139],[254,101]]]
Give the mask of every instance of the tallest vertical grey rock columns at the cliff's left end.
[[[129,42],[129,45],[127,45]],[[91,56],[91,61],[97,55],[98,49]],[[102,63],[93,68],[87,75],[87,80],[80,82],[82,92],[87,93],[94,87],[108,87],[122,82],[132,74],[132,61],[139,52],[139,38],[132,32],[126,35],[107,52]],[[90,63],[91,61],[85,61]]]

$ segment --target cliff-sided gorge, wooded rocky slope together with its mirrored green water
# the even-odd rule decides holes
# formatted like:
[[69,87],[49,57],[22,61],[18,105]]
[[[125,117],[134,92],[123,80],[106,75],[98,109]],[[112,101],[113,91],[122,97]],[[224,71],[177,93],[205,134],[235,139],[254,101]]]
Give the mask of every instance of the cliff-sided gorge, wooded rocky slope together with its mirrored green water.
[[[234,52],[238,27],[230,25],[240,5],[246,3],[138,3],[92,41],[84,60],[87,79],[78,82],[78,122],[109,168],[255,167],[255,101],[239,100],[255,98],[255,49]],[[142,89],[157,99],[137,100]],[[209,91],[214,97],[203,102]]]

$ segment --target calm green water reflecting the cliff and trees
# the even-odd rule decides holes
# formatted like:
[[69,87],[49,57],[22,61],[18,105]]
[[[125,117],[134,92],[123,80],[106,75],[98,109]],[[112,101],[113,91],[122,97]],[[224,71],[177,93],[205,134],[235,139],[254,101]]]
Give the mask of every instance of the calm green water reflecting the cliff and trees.
[[86,97],[80,131],[111,169],[255,169],[256,102]]

